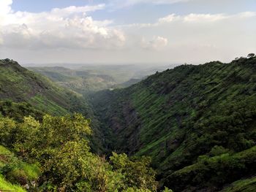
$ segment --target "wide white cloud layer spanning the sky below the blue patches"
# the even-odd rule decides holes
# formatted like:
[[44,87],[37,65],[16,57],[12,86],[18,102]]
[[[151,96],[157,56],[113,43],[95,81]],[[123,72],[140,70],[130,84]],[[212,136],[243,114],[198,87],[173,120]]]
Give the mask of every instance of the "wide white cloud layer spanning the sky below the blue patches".
[[[110,1],[118,6],[176,2]],[[152,23],[116,26],[90,17],[110,8],[104,4],[39,13],[14,12],[11,4],[0,0],[0,57],[23,62],[203,63],[256,50],[256,12],[170,14]]]

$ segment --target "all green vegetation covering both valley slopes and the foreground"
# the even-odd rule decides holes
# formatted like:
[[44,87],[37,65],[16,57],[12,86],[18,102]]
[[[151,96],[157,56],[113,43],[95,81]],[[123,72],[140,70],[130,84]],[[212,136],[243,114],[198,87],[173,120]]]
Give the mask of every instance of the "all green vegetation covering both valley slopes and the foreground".
[[[56,69],[59,85],[88,75]],[[255,55],[177,66],[86,98],[9,59],[0,71],[0,189],[256,188]]]

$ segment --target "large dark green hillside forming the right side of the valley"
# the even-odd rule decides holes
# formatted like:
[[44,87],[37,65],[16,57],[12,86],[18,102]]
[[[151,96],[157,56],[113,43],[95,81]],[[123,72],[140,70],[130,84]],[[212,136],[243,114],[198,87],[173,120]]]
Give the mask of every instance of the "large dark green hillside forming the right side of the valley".
[[106,147],[150,155],[162,185],[174,191],[220,191],[256,173],[253,56],[177,66],[92,102]]

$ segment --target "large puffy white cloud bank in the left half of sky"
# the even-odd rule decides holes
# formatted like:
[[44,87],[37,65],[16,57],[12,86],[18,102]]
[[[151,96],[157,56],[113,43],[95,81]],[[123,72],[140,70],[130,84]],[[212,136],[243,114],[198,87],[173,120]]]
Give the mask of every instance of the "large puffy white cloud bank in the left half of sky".
[[10,48],[115,49],[124,45],[121,30],[112,20],[94,20],[88,12],[104,4],[52,9],[50,12],[13,12],[12,1],[1,0],[0,45]]

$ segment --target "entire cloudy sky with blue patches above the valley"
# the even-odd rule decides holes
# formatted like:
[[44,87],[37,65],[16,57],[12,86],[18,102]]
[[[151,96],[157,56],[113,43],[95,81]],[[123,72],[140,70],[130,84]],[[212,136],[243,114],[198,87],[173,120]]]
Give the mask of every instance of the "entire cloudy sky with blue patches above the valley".
[[0,58],[20,64],[203,64],[255,52],[255,0],[0,0]]

